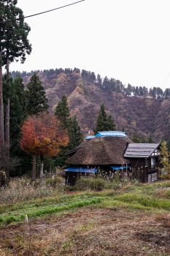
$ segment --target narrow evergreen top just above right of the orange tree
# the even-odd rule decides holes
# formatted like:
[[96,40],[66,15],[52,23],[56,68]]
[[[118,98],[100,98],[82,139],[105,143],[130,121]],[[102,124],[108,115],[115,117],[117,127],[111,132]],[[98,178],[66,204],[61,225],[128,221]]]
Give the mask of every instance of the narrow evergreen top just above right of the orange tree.
[[69,127],[69,105],[67,103],[66,96],[63,96],[61,101],[58,102],[58,105],[55,108],[55,116],[58,118],[58,120],[61,121],[64,128]]

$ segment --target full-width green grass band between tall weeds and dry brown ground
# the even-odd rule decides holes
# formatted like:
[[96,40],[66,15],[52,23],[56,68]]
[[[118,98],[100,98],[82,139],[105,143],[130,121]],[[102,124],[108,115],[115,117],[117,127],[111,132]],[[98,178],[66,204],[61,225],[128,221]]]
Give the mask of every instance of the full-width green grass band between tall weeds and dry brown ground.
[[0,205],[0,225],[24,222],[29,217],[66,212],[85,206],[101,208],[142,209],[152,212],[170,210],[170,182],[138,184],[120,191],[75,192],[73,195],[58,195],[30,200],[13,205]]

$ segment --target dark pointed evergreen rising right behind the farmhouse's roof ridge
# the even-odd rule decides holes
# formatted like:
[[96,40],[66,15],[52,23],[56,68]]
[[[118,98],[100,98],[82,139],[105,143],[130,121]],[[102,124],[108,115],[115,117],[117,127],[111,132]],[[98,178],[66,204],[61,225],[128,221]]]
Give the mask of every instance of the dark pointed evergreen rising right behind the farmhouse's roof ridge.
[[115,128],[116,126],[112,116],[107,116],[104,104],[101,104],[94,132],[115,131]]

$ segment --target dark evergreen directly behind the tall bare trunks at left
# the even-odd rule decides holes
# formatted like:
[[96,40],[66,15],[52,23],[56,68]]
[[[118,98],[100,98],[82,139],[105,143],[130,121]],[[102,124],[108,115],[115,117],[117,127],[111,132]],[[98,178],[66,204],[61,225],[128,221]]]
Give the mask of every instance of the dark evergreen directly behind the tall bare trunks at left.
[[10,78],[7,84],[7,75],[4,75],[3,92],[4,105],[7,105],[7,98],[10,99],[10,159],[20,159],[20,166],[16,169],[15,166],[12,167],[11,176],[18,176],[30,167],[30,159],[20,149],[20,127],[25,118],[26,107],[23,79],[19,76],[14,80]]

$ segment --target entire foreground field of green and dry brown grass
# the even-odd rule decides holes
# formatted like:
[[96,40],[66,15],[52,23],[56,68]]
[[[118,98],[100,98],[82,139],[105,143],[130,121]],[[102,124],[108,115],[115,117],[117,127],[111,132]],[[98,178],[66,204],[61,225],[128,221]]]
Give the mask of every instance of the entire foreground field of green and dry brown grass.
[[170,255],[170,182],[0,205],[0,255]]

